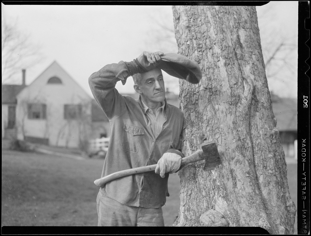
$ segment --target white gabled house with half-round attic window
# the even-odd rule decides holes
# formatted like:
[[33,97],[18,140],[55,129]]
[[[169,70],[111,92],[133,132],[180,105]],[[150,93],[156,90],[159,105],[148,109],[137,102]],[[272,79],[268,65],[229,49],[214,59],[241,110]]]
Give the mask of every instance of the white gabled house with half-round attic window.
[[17,138],[81,147],[91,133],[92,98],[54,61],[16,96]]

